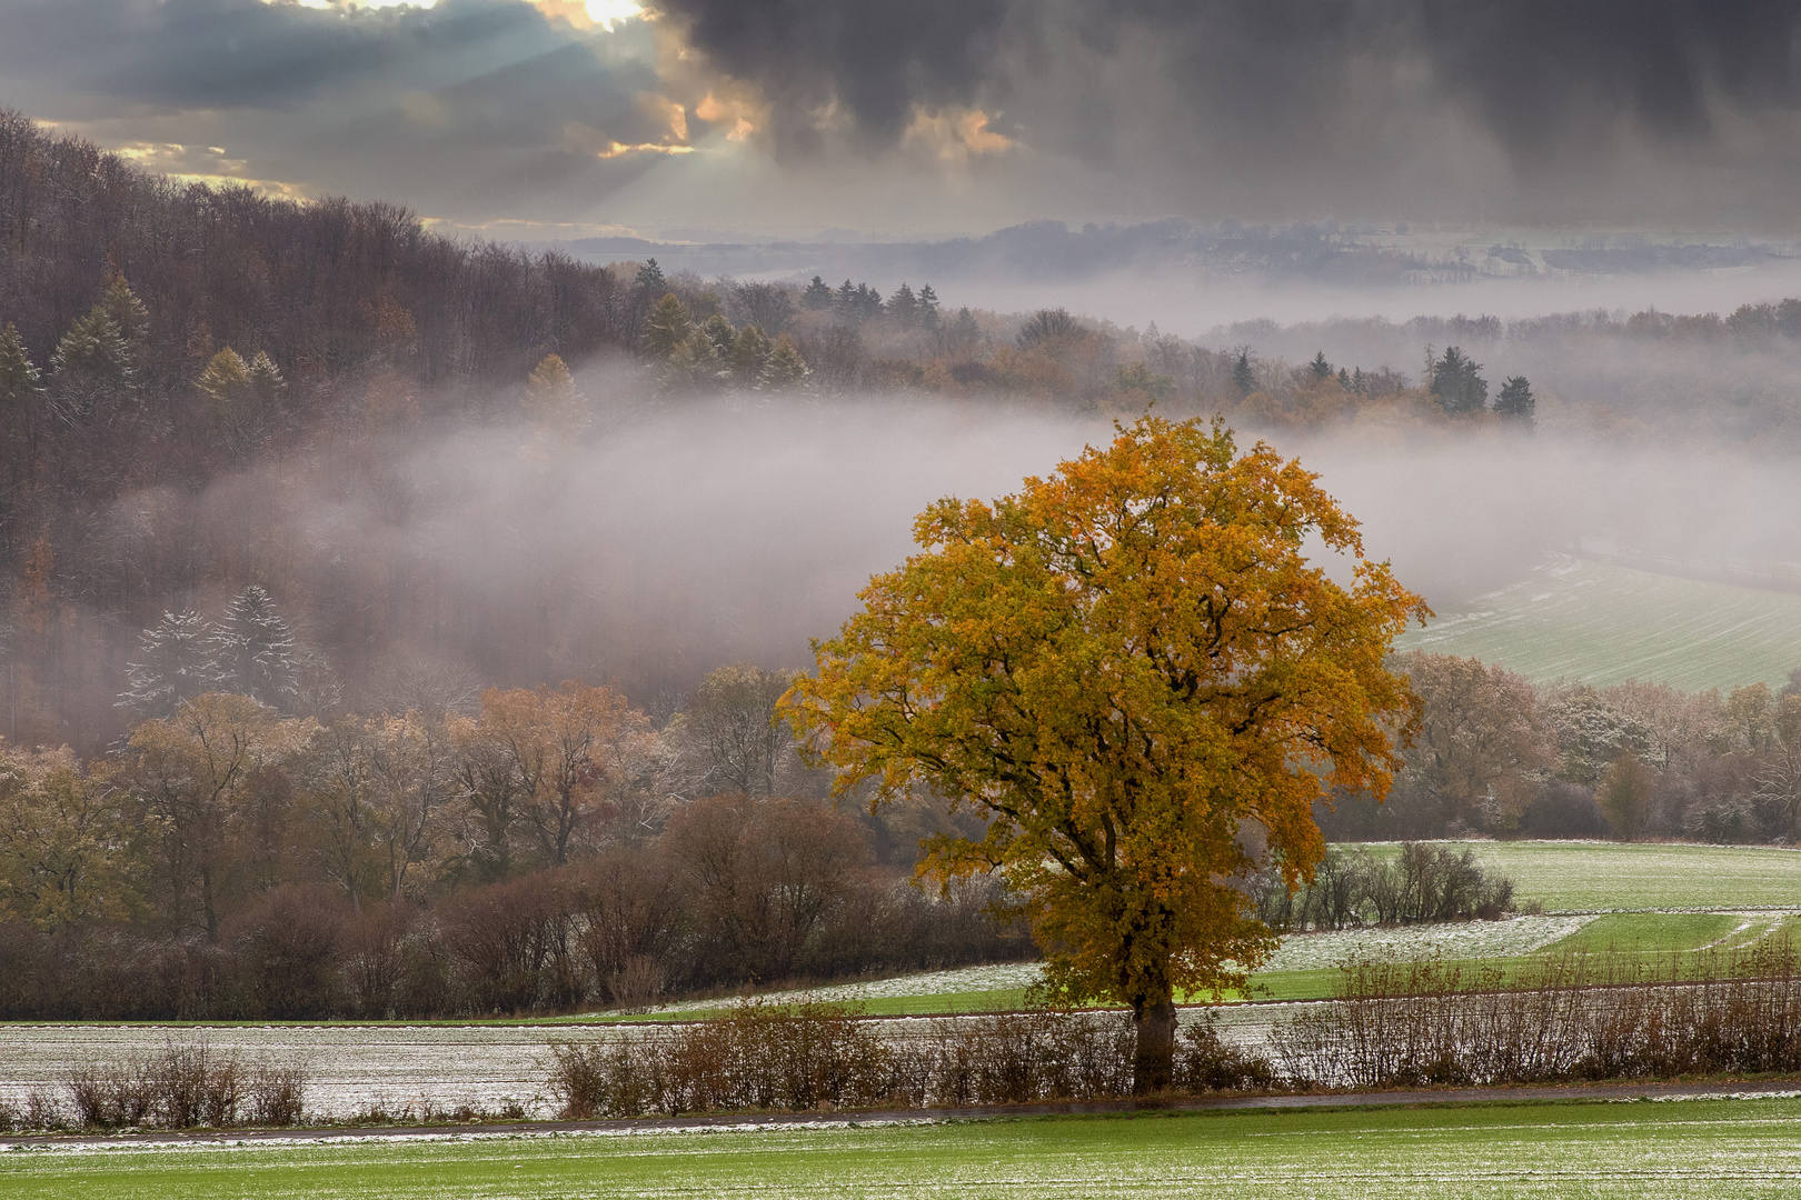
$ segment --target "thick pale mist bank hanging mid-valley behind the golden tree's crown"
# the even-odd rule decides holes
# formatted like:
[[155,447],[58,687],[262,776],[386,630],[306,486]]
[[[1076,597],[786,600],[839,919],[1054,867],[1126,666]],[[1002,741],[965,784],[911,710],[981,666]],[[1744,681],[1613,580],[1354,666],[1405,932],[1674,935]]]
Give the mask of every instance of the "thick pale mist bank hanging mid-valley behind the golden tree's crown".
[[[670,403],[589,432],[483,426],[317,453],[193,500],[135,497],[113,524],[131,531],[128,558],[195,556],[196,587],[169,606],[265,581],[351,705],[423,660],[486,684],[611,682],[668,712],[720,664],[805,666],[809,639],[910,552],[928,502],[1012,491],[1109,435],[992,403]],[[1439,606],[1583,538],[1801,560],[1801,462],[1787,457],[1455,430],[1279,450],[1320,471],[1369,552]]]

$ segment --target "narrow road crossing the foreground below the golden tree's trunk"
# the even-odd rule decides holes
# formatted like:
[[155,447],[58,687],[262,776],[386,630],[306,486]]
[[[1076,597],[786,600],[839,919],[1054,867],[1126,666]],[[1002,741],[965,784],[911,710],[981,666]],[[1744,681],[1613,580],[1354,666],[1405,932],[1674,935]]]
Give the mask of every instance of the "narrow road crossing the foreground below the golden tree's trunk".
[[367,1139],[459,1139],[520,1137],[549,1133],[668,1133],[679,1130],[900,1124],[919,1121],[980,1121],[992,1117],[1102,1115],[1126,1112],[1208,1112],[1270,1108],[1399,1108],[1408,1105],[1484,1105],[1513,1101],[1670,1101],[1724,1099],[1801,1094],[1801,1079],[1758,1079],[1751,1083],[1581,1083],[1563,1087],[1471,1087],[1419,1088],[1407,1092],[1320,1092],[1306,1096],[1194,1096],[1171,1099],[1106,1099],[1057,1105],[978,1105],[971,1108],[886,1108],[864,1112],[782,1112],[715,1114],[697,1117],[639,1117],[621,1121],[517,1121],[506,1124],[420,1124],[326,1130],[243,1130],[204,1133],[117,1133],[117,1135],[13,1135],[0,1137],[0,1151],[104,1148],[104,1146],[204,1146],[243,1142],[333,1142]]

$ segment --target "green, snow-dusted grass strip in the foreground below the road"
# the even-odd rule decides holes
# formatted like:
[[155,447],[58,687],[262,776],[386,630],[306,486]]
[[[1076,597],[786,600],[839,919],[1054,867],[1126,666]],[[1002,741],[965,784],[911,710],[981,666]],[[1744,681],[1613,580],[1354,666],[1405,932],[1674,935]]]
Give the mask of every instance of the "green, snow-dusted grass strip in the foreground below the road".
[[456,1142],[0,1153],[0,1195],[1792,1196],[1801,1099],[1052,1117]]

